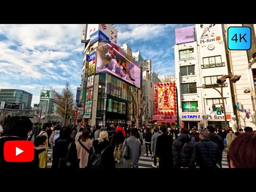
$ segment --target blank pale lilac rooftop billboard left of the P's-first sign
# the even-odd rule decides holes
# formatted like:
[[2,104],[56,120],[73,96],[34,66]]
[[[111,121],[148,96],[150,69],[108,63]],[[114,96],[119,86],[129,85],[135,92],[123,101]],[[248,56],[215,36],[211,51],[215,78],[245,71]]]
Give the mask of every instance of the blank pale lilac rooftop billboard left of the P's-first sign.
[[175,29],[175,43],[188,43],[195,41],[195,27],[182,27]]

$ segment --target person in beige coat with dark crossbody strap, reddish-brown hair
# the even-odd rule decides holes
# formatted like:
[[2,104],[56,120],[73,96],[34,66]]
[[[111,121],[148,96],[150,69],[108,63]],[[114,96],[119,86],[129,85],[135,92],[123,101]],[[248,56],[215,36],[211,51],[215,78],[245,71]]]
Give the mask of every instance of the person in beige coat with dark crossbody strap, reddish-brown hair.
[[[87,129],[84,129],[82,132],[82,138],[80,141],[89,151],[91,150],[92,140],[90,139],[90,133]],[[80,159],[79,168],[84,168],[87,166],[90,153],[82,147],[81,143],[79,141],[76,143],[77,158]]]

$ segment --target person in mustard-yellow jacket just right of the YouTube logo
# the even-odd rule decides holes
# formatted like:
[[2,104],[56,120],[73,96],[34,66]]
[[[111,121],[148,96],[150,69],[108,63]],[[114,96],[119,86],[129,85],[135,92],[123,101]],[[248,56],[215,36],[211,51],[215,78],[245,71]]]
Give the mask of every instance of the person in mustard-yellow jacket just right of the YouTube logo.
[[40,135],[35,138],[35,155],[38,156],[39,162],[38,167],[39,168],[46,168],[47,167],[47,152],[45,150],[46,146],[46,140],[47,137],[45,135]]

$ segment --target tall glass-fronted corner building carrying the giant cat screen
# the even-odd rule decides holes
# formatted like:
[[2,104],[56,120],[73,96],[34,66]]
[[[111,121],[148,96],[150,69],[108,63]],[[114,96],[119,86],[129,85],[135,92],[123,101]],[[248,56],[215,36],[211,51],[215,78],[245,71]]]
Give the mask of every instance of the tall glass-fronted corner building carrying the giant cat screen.
[[[83,124],[129,124],[133,111],[130,91],[141,87],[140,66],[116,45],[117,30],[112,25],[86,26],[86,37],[82,35],[86,40],[80,95],[80,103],[84,107]],[[100,35],[95,37],[92,32]],[[102,34],[105,34],[105,39],[102,39]],[[113,66],[114,58],[110,58],[110,52],[115,54],[118,65],[121,64],[125,70],[118,65]]]

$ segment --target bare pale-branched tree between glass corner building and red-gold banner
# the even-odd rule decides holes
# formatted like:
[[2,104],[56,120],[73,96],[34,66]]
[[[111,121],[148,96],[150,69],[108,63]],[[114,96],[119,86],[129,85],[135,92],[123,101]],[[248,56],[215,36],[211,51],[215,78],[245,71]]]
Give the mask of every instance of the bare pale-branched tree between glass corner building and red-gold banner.
[[135,92],[129,89],[129,93],[131,94],[133,102],[132,118],[135,121],[135,126],[139,127],[141,125],[142,116],[148,108],[148,104],[146,104],[146,107],[144,108],[145,99],[142,97],[142,89],[140,90],[138,87],[136,87]]

